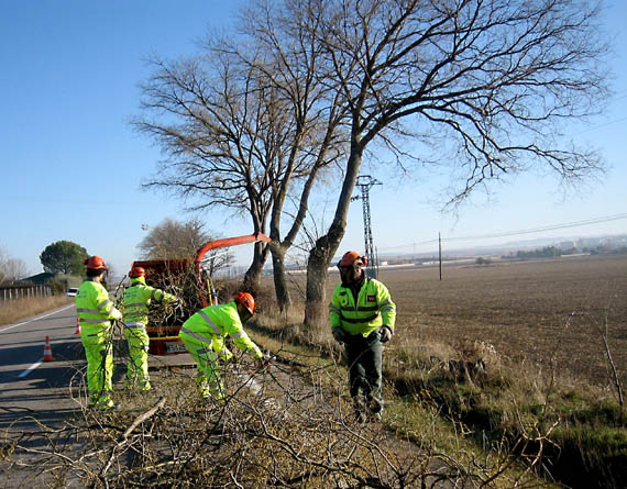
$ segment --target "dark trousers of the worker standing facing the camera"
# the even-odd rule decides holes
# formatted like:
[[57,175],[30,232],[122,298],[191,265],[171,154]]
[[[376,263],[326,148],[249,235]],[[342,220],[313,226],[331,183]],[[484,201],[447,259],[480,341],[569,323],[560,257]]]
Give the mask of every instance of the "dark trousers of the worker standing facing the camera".
[[365,403],[372,412],[383,410],[383,346],[373,331],[367,337],[348,335],[344,343],[349,365],[349,391],[358,405]]

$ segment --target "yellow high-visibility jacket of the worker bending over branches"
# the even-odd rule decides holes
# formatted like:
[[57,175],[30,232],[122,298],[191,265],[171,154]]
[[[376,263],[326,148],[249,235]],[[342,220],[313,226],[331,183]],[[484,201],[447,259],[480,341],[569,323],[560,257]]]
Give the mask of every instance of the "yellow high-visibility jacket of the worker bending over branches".
[[244,331],[235,302],[201,309],[183,323],[179,334],[211,344],[215,352],[220,352],[223,348],[224,337],[230,336],[235,346],[252,354],[254,358],[263,357],[260,347]]

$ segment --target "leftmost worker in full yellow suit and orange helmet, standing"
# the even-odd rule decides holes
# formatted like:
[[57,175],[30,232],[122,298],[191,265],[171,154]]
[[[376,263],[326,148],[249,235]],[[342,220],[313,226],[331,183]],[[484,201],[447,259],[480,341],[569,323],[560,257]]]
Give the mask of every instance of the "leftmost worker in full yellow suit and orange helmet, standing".
[[99,256],[85,259],[87,280],[76,292],[76,314],[80,324],[80,341],[87,357],[87,391],[89,407],[107,410],[116,407],[113,392],[113,342],[111,320],[122,313],[109,299],[102,286],[107,265]]

